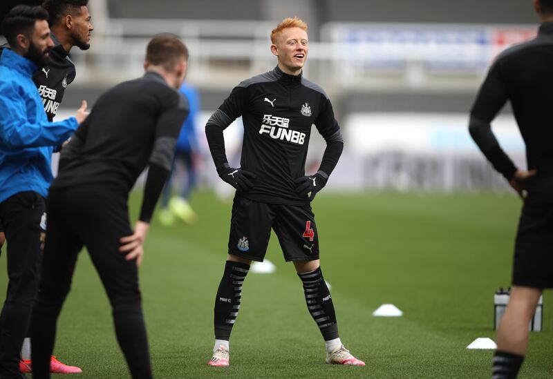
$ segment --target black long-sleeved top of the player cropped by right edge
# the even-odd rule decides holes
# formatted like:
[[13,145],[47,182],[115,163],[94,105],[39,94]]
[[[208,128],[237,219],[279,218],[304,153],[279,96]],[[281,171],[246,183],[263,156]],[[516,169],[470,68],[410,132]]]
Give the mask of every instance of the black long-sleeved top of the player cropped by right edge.
[[498,56],[471,109],[471,135],[494,167],[511,179],[516,166],[490,130],[507,100],[526,144],[528,169],[538,170],[529,191],[553,195],[553,23],[543,23],[536,38]]

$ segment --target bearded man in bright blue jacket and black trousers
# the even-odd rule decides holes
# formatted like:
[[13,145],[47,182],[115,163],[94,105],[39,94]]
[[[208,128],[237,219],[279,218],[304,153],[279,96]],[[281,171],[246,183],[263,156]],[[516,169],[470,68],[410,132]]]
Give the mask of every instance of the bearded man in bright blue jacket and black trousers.
[[19,352],[28,330],[38,284],[40,236],[46,227],[44,198],[52,180],[53,149],[86,118],[48,122],[32,81],[54,46],[48,13],[17,6],[2,23],[11,49],[0,56],[0,220],[8,246],[8,293],[0,315],[0,377],[20,378]]

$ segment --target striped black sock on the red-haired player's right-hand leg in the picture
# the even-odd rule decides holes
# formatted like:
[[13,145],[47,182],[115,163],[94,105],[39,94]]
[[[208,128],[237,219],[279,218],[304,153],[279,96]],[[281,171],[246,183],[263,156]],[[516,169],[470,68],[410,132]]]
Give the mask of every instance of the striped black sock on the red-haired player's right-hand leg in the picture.
[[324,281],[321,267],[309,273],[298,273],[298,276],[303,282],[303,292],[306,295],[309,313],[317,322],[324,340],[339,338],[334,304],[332,304],[332,297]]

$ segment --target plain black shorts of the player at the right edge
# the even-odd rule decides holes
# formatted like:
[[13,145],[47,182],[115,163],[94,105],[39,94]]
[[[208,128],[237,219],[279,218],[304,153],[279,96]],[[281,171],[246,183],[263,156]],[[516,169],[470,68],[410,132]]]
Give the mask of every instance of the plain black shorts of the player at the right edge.
[[518,222],[513,284],[553,288],[553,201],[530,194]]

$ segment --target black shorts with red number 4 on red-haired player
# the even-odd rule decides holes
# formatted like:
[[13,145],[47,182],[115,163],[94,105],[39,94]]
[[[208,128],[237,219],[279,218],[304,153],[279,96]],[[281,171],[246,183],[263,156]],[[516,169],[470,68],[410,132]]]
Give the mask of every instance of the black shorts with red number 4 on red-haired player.
[[319,259],[319,234],[310,205],[268,204],[238,195],[232,204],[229,254],[263,262],[271,228],[286,262]]

